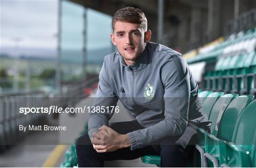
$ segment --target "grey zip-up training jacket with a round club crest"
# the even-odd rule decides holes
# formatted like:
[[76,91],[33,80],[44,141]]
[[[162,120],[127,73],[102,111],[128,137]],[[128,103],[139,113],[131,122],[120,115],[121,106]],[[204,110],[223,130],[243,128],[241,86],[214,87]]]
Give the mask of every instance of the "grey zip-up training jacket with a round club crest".
[[[147,42],[136,63],[127,66],[114,52],[104,58],[93,106],[116,106],[118,99],[144,127],[128,133],[131,150],[157,144],[170,136],[186,147],[195,126],[210,128],[210,122],[197,97],[198,86],[186,60],[170,48]],[[88,134],[92,134],[114,113],[90,113]]]

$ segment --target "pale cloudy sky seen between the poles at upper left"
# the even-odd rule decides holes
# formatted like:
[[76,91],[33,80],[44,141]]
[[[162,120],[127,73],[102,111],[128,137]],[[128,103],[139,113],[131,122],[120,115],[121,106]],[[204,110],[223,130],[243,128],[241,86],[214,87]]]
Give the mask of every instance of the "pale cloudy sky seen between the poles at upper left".
[[[65,48],[82,48],[81,6],[65,1],[62,32]],[[48,50],[55,54],[57,47],[58,0],[0,0],[1,52],[13,55],[32,54]],[[88,49],[110,47],[111,17],[87,10]],[[102,29],[104,27],[104,29]],[[17,42],[19,41],[19,42]]]

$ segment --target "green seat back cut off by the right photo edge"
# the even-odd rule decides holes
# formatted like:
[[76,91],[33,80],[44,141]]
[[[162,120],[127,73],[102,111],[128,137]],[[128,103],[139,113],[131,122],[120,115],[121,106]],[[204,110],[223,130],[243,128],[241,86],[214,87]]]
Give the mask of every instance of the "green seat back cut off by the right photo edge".
[[240,114],[232,142],[242,145],[250,153],[253,146],[256,145],[256,100],[252,101]]

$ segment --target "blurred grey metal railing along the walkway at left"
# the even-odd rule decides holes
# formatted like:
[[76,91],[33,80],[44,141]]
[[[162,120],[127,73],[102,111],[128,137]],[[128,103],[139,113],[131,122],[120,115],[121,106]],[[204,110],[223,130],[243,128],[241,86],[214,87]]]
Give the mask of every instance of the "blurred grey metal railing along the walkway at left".
[[[74,106],[75,103],[89,96],[85,89],[98,82],[98,77],[91,77],[86,81],[65,84],[62,92],[48,94],[42,91],[3,93],[0,95],[0,151],[5,151],[10,145],[20,142],[29,132],[19,131],[19,125],[46,124],[49,117],[44,113],[19,113],[21,107],[40,108],[58,106],[63,109]],[[70,113],[72,114],[72,113]]]

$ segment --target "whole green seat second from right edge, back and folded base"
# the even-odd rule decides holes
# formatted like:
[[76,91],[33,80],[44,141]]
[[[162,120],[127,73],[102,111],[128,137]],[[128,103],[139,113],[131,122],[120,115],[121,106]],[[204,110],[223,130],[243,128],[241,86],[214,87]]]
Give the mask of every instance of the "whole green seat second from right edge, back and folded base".
[[[227,107],[217,133],[205,134],[205,151],[215,160],[219,161],[219,148],[225,148],[225,142],[231,142],[236,122],[239,114],[246,109],[248,104],[253,100],[253,95],[242,95],[230,102]],[[217,136],[216,136],[217,134]],[[209,165],[209,163],[208,163]]]

